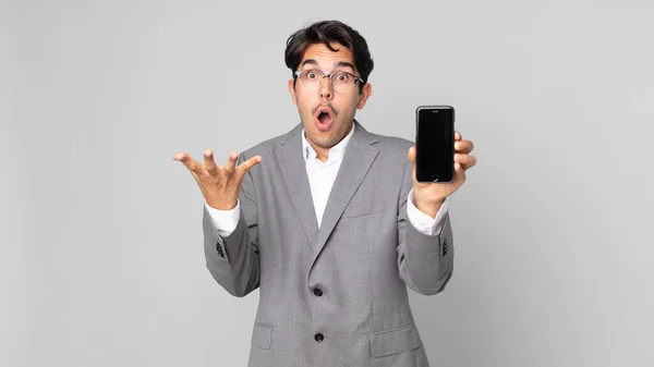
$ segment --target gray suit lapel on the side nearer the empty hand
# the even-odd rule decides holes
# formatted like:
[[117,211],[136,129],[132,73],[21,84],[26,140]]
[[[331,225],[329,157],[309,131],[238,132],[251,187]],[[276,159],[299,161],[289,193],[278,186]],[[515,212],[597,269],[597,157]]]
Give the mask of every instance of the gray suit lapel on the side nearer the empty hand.
[[277,147],[276,154],[281,175],[298,211],[300,224],[302,224],[306,240],[312,250],[314,250],[314,244],[318,235],[318,221],[306,175],[306,161],[302,156],[302,137],[300,134],[302,134],[302,124],[287,134],[287,138]]

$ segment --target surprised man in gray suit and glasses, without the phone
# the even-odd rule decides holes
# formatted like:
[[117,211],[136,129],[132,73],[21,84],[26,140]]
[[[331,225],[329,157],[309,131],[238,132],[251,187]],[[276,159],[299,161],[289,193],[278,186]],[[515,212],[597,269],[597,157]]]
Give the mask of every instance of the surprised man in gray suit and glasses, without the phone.
[[451,183],[416,182],[412,144],[354,120],[373,60],[346,24],[300,29],[286,63],[301,124],[225,167],[173,156],[205,198],[210,273],[234,296],[259,289],[249,366],[428,366],[407,288],[436,294],[452,274],[445,199],[473,145],[456,134]]

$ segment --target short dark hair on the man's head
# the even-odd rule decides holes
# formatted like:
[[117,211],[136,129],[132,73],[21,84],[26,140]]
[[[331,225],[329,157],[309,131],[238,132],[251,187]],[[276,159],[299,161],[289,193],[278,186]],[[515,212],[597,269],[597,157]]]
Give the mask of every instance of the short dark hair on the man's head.
[[[359,32],[339,21],[314,23],[306,28],[295,32],[287,39],[284,61],[291,73],[293,73],[293,78],[295,77],[295,71],[298,71],[300,61],[304,57],[304,51],[306,51],[308,46],[325,44],[331,51],[336,51],[331,47],[331,42],[341,44],[352,51],[354,54],[354,66],[361,73],[361,77],[367,82],[374,68],[367,42]],[[361,91],[361,89],[363,89],[363,84],[359,83],[359,90]]]

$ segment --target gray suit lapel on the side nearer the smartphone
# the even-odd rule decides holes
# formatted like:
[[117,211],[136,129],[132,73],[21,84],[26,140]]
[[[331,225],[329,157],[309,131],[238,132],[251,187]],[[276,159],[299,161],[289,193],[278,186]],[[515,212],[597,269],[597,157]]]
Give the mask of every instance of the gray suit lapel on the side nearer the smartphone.
[[352,135],[352,138],[346,148],[343,161],[341,162],[336,181],[329,193],[329,199],[327,200],[327,207],[323,215],[323,222],[320,223],[320,229],[318,231],[311,267],[313,267],[318,258],[318,255],[323,250],[323,247],[325,247],[334,228],[338,223],[341,215],[348,207],[352,196],[354,196],[354,193],[363,182],[363,179],[379,152],[379,150],[371,146],[373,143],[378,142],[378,139],[363,129],[356,121],[354,121],[354,124],[356,125],[354,135]]

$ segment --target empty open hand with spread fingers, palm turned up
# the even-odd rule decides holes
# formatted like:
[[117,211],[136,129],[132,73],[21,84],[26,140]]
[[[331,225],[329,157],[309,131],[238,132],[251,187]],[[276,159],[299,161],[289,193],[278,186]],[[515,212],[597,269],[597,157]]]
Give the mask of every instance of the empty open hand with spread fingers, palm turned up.
[[214,161],[214,152],[209,149],[204,152],[204,163],[195,161],[185,152],[174,154],[172,159],[184,163],[197,182],[207,204],[220,210],[235,208],[243,176],[262,161],[261,156],[254,156],[237,167],[239,155],[232,152],[227,164],[220,167]]

